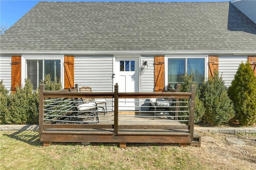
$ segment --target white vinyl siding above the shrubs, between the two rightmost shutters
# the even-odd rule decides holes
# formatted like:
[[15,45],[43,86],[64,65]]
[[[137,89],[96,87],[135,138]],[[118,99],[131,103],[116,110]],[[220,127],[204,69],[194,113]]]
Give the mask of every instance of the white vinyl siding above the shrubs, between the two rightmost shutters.
[[248,56],[219,56],[219,74],[225,81],[225,86],[229,87],[239,65],[246,63]]

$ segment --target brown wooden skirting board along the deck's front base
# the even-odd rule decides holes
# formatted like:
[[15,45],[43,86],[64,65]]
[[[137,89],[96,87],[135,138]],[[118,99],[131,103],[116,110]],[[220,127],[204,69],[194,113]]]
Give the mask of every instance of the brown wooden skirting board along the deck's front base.
[[44,131],[42,142],[95,142],[95,143],[191,143],[188,132],[136,132],[123,131],[117,135],[110,131]]

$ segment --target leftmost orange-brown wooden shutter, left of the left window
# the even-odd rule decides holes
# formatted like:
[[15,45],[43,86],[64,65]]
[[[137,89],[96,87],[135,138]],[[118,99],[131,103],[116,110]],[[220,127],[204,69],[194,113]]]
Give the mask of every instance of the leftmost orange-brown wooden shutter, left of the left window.
[[12,92],[21,86],[21,56],[12,56]]

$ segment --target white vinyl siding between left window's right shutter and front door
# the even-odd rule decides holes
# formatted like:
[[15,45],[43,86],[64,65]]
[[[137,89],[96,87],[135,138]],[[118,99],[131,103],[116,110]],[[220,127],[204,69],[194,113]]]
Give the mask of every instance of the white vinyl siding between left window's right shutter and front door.
[[[113,56],[75,56],[74,83],[89,86],[92,92],[113,92]],[[113,100],[107,99],[108,111]]]

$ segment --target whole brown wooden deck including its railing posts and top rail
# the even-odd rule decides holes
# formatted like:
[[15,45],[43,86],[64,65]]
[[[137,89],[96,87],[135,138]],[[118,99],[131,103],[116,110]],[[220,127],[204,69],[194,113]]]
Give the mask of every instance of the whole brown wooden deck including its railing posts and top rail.
[[[179,143],[180,146],[200,146],[200,137],[194,136],[194,103],[190,107],[190,120],[188,125],[178,121],[177,113],[171,117],[158,116],[154,119],[154,113],[140,111],[118,111],[118,97],[120,98],[152,98],[172,97],[191,98],[192,93],[58,93],[44,92],[40,90],[40,141],[44,146],[52,142],[95,142],[95,143],[119,143],[125,148],[126,143]],[[105,95],[105,96],[104,96]],[[67,123],[56,120],[55,123],[44,121],[44,98],[79,98],[79,97],[114,98],[114,111],[108,111],[106,115],[98,113],[99,123],[88,123],[87,119],[80,119],[79,123]],[[106,121],[108,120],[108,121]]]

